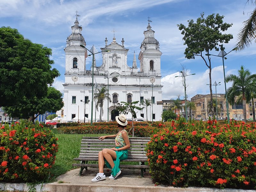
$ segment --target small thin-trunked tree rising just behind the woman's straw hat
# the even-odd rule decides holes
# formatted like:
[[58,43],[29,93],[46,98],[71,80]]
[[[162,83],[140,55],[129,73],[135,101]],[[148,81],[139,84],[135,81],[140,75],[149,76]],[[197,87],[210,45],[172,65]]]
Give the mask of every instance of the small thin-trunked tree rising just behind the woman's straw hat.
[[[131,132],[132,130],[132,137],[134,137],[133,119],[137,118],[136,113],[138,113],[142,109],[141,107],[136,106],[138,103],[139,101],[133,101],[131,103],[121,101],[120,103],[117,103],[116,108],[116,110],[118,110],[119,113],[123,113],[124,115],[127,115],[128,113],[132,114],[132,128],[129,130],[129,132]],[[137,112],[135,112],[135,109],[137,109]]]

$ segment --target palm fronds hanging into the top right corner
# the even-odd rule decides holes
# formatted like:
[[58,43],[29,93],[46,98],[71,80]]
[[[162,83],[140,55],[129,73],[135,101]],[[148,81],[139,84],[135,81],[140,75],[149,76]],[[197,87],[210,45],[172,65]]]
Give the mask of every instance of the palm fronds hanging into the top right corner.
[[[252,5],[256,5],[256,1],[246,0],[246,3],[251,1]],[[239,50],[243,50],[245,47],[249,47],[252,41],[255,39],[256,31],[256,9],[250,12],[248,20],[244,21],[244,27],[240,29],[238,34],[238,42],[236,47]]]

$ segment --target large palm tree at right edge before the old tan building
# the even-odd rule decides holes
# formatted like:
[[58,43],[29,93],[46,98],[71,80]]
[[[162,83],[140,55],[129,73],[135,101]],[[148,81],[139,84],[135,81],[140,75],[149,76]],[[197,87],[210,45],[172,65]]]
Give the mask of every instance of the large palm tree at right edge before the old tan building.
[[232,74],[226,76],[226,82],[231,81],[233,82],[232,87],[227,90],[228,102],[233,105],[236,99],[241,98],[244,120],[246,121],[246,102],[251,100],[252,92],[256,92],[256,75],[251,75],[249,69],[244,69],[244,66],[241,66],[241,69],[238,70],[238,76]]

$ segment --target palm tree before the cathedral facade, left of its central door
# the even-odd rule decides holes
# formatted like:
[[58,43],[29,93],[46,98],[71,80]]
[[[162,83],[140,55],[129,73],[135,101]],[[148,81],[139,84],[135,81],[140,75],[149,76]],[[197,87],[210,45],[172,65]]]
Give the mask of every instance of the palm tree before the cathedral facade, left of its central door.
[[108,94],[108,89],[106,87],[101,87],[101,89],[98,89],[98,92],[94,93],[93,100],[97,100],[96,102],[96,110],[99,111],[100,107],[100,122],[101,122],[101,115],[103,115],[103,103],[104,100],[108,99],[111,102],[110,95]]

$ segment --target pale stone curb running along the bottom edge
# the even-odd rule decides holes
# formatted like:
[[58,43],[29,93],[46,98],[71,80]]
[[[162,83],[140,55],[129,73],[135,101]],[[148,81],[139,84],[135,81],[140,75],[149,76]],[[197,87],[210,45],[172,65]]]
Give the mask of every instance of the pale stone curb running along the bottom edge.
[[[0,183],[0,190],[29,191],[31,186],[26,183]],[[245,189],[218,188],[174,188],[166,186],[138,186],[138,185],[109,185],[109,184],[75,184],[75,183],[46,183],[35,186],[36,192],[256,192]]]

